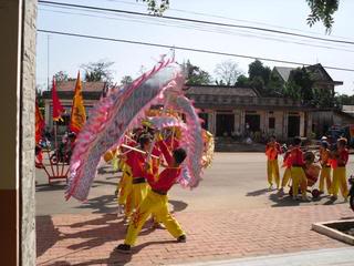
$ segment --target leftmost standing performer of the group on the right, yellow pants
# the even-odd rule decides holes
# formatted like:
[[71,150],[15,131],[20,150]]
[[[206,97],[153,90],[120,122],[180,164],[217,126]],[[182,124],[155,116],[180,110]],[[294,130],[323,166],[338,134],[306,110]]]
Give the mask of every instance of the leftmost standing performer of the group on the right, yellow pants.
[[269,188],[273,188],[273,178],[277,188],[280,188],[280,176],[279,176],[279,165],[278,165],[278,154],[281,153],[281,149],[278,142],[275,142],[275,136],[270,137],[270,142],[266,146],[267,155],[267,175]]

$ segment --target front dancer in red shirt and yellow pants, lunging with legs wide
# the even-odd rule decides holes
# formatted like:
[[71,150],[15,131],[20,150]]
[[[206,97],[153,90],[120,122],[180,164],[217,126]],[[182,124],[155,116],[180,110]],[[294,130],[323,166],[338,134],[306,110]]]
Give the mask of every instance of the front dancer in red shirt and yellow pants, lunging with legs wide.
[[158,145],[165,156],[168,167],[166,167],[159,174],[158,178],[156,178],[153,174],[154,172],[152,171],[150,164],[148,164],[145,176],[147,177],[152,190],[133,214],[124,244],[121,244],[115,248],[117,252],[131,253],[131,247],[135,244],[138,233],[150,214],[156,215],[158,221],[166,226],[167,231],[177,238],[177,242],[186,242],[185,232],[168,211],[167,193],[176,183],[181,171],[180,164],[185,161],[187,154],[184,149],[176,149],[171,155],[166,144],[160,141],[160,137]]

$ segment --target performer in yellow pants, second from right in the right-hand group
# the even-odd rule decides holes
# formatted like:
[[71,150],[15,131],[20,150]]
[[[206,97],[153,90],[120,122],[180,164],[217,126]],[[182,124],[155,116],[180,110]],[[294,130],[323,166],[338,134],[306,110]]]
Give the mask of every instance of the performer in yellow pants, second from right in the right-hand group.
[[331,165],[330,165],[331,152],[329,150],[329,143],[323,141],[320,147],[320,163],[322,166],[320,174],[320,193],[324,193],[324,183],[326,184],[327,193],[332,194],[332,181],[331,181]]

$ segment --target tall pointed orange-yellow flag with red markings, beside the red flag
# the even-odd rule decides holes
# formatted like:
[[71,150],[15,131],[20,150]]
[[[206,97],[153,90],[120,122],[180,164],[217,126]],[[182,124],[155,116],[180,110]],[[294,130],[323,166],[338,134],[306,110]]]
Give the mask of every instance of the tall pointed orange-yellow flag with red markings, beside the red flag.
[[70,130],[79,133],[82,126],[86,122],[86,111],[84,106],[84,100],[82,96],[82,84],[80,80],[80,72],[77,73],[77,80],[75,84],[75,94],[73,99],[73,106],[71,110]]

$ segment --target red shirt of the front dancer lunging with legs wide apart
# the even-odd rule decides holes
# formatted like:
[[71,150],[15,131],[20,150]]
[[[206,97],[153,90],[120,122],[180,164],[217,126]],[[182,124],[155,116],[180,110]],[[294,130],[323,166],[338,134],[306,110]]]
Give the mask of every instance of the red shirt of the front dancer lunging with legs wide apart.
[[170,152],[168,151],[165,142],[159,142],[159,147],[165,156],[165,160],[168,164],[168,167],[166,167],[158,176],[158,178],[155,177],[154,174],[147,173],[147,182],[149,183],[150,187],[155,191],[167,193],[170,187],[176,183],[177,177],[180,174],[180,167],[173,167],[173,156]]

